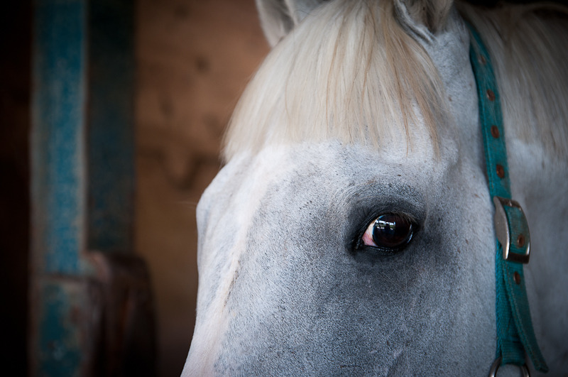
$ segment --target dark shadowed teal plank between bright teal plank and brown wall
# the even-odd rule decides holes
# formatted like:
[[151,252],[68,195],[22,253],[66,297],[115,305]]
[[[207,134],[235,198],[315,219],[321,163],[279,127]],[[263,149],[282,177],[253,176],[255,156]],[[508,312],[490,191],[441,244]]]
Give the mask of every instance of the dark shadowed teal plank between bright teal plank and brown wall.
[[89,5],[88,247],[133,248],[133,0]]

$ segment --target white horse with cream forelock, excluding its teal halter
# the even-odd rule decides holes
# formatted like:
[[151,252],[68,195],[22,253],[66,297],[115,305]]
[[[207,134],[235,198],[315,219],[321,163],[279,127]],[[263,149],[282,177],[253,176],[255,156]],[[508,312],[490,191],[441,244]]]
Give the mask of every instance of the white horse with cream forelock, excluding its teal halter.
[[182,376],[486,375],[495,209],[464,20],[498,80],[512,197],[530,226],[535,335],[549,375],[565,376],[567,18],[451,0],[258,9],[273,50],[197,208],[197,322]]

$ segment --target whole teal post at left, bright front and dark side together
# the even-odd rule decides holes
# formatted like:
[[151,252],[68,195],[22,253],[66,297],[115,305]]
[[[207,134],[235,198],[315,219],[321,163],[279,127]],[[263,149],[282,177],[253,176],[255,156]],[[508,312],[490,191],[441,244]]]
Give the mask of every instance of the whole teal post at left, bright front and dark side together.
[[91,256],[133,251],[133,15],[133,0],[34,2],[31,376],[118,368],[97,365],[113,318]]

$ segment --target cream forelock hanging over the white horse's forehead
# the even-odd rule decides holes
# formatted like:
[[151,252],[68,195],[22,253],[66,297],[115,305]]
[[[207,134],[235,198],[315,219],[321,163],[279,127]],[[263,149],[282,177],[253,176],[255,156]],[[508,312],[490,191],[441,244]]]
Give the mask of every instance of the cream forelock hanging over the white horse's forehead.
[[405,138],[412,146],[416,124],[437,148],[446,109],[432,60],[391,1],[331,1],[263,62],[236,106],[224,154],[329,139],[380,147]]

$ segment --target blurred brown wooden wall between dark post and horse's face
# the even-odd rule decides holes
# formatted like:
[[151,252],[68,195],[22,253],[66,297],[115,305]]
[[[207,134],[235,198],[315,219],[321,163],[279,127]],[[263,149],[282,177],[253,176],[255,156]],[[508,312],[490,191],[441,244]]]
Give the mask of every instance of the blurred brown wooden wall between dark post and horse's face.
[[268,45],[253,0],[139,0],[136,252],[148,263],[160,376],[179,376],[197,297],[195,207]]

